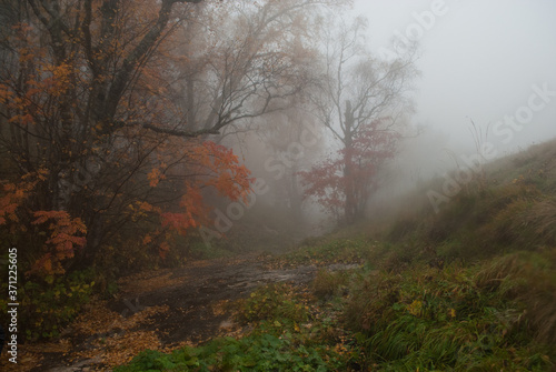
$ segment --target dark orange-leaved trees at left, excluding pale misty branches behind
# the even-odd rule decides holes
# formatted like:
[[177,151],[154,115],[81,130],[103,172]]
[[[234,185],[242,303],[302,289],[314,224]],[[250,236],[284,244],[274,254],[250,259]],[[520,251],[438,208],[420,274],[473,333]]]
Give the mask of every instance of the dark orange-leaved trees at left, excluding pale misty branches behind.
[[183,122],[172,95],[177,30],[197,2],[7,6],[0,228],[26,248],[28,275],[125,267],[138,239],[139,255],[165,258],[207,219],[207,197],[249,192],[249,171]]

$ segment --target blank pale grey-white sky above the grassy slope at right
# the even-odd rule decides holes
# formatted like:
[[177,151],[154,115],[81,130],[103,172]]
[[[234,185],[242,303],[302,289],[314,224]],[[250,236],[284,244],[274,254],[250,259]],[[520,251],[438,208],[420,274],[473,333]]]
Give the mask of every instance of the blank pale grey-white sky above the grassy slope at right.
[[[415,14],[433,14],[435,6],[443,12],[427,30]],[[503,154],[556,137],[555,0],[355,0],[355,13],[369,19],[375,51],[389,48],[396,32],[420,27],[413,121],[443,139],[433,141],[438,148],[473,151],[469,118],[486,128],[515,115],[528,105],[534,84],[555,92],[546,107],[512,138],[510,127],[499,124],[506,135],[490,132],[488,141]],[[437,150],[429,149],[433,159]]]

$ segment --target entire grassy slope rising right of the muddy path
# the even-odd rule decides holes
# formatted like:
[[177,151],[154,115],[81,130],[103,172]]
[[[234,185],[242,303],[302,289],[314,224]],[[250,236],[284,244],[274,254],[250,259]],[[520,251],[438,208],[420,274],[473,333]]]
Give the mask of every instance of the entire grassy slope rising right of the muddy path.
[[255,292],[238,304],[248,336],[147,352],[119,371],[554,369],[556,143],[489,164],[437,214],[425,194],[380,242],[342,232],[277,259],[365,264],[321,269],[309,291]]

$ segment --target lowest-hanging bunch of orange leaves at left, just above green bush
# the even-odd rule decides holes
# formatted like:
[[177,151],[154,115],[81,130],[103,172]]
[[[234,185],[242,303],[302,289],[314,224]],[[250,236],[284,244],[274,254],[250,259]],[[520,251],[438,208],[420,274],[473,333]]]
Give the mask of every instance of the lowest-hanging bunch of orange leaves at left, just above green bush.
[[48,252],[33,264],[30,273],[64,273],[61,262],[72,258],[76,249],[83,248],[87,243],[86,238],[81,237],[87,233],[85,223],[79,218],[72,219],[66,211],[38,211],[33,215],[36,220],[32,224],[51,222],[47,228],[50,238],[44,242]]

